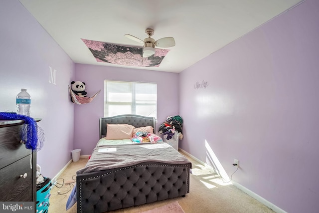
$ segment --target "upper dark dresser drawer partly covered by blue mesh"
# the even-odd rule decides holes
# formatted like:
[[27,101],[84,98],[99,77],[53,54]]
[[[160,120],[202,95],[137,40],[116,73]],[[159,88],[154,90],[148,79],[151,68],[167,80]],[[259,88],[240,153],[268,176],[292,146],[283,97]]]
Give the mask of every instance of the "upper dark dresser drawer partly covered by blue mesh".
[[20,143],[20,128],[21,125],[0,128],[0,169],[30,155],[30,150]]

